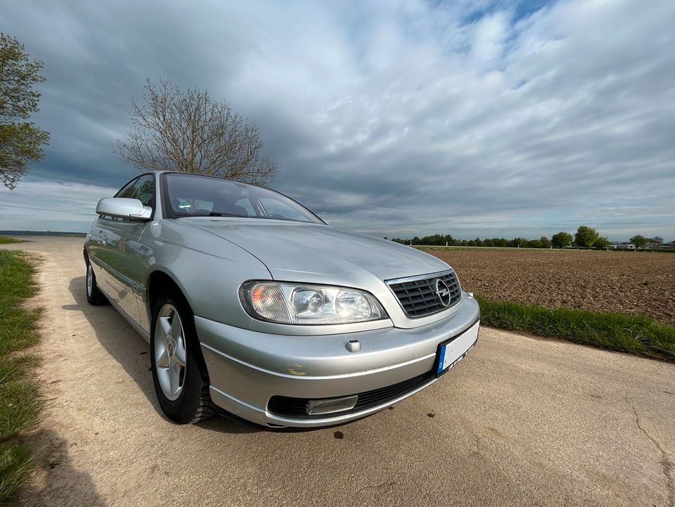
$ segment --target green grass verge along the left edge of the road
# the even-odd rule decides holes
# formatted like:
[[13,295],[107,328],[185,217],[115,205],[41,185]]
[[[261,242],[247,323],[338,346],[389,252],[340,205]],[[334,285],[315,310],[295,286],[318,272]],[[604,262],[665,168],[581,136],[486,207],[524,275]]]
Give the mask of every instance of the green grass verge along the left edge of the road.
[[0,250],[0,503],[32,470],[20,433],[34,423],[41,407],[38,386],[30,377],[38,359],[19,351],[39,339],[41,309],[22,304],[37,290],[34,271],[23,252]]

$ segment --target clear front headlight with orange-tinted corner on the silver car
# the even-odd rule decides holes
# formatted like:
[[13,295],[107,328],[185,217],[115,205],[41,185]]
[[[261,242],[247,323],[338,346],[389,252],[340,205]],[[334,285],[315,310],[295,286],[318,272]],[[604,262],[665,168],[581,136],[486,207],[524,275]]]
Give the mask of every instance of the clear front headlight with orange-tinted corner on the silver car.
[[248,282],[239,299],[255,319],[282,324],[345,324],[386,319],[387,312],[363,290],[288,282]]

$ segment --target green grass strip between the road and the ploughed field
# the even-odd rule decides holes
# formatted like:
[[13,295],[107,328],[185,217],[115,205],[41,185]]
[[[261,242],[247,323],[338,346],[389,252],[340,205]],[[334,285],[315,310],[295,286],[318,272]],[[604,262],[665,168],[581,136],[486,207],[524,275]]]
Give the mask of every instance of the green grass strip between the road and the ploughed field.
[[486,326],[675,362],[675,328],[648,316],[476,299]]

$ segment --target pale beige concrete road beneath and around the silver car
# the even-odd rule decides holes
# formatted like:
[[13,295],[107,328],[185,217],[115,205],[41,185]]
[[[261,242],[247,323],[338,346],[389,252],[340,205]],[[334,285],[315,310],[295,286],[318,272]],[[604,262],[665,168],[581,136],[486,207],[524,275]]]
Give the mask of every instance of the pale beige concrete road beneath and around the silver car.
[[675,366],[483,329],[392,410],[306,432],[160,414],[148,345],[84,297],[82,238],[41,252],[47,401],[22,506],[675,506]]

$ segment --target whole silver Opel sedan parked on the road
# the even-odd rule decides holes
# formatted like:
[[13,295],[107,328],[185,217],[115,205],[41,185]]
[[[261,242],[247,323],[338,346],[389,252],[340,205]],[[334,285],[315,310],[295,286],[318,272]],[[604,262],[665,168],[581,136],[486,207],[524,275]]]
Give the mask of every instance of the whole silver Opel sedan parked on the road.
[[86,297],[150,342],[166,415],[270,427],[345,423],[434,383],[478,337],[451,267],[331,227],[267,188],[142,174],[102,199]]

